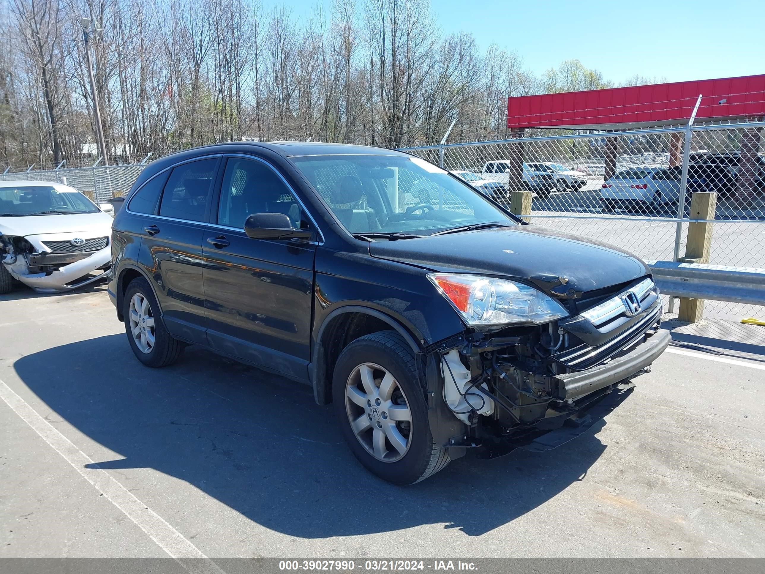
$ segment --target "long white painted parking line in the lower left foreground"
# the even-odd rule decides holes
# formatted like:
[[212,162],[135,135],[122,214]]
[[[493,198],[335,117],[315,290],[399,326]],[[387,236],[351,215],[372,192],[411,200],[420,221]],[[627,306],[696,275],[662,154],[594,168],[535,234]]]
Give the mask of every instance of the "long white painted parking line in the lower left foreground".
[[170,526],[154,510],[146,507],[122,484],[103,468],[85,468],[85,465],[95,465],[88,455],[57,431],[37,411],[18,396],[5,382],[0,380],[0,397],[14,412],[21,417],[34,432],[50,445],[58,454],[83,475],[86,481],[93,484],[119,510],[132,520],[138,528],[154,540],[158,546],[174,558],[191,574],[224,574],[216,563],[205,556],[201,550],[190,543],[180,532]]

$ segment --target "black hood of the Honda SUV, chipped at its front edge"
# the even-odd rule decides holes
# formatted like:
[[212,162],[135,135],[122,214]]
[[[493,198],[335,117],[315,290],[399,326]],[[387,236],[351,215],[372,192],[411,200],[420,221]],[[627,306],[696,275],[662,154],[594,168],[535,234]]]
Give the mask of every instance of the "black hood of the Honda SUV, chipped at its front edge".
[[536,225],[372,242],[369,253],[432,271],[521,279],[562,297],[579,297],[650,272],[618,247]]

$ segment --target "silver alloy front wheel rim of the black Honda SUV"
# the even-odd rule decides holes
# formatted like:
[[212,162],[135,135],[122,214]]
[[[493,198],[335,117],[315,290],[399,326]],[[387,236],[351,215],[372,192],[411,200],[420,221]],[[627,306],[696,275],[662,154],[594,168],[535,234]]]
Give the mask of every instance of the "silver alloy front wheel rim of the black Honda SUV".
[[346,383],[345,408],[356,439],[377,460],[395,462],[409,450],[412,411],[388,370],[373,363],[353,369]]

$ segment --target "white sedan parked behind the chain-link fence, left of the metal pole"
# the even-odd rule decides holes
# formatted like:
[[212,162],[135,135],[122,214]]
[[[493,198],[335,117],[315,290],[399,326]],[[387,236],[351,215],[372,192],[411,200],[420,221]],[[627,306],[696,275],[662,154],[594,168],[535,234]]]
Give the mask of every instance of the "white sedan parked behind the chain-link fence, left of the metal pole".
[[601,210],[640,210],[676,214],[680,197],[680,166],[629,168],[617,171],[601,186]]

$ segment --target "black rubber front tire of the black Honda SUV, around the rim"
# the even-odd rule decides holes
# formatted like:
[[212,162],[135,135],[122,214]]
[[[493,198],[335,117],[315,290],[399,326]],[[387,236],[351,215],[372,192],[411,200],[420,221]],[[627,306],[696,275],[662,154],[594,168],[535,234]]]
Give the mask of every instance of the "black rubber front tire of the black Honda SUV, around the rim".
[[[366,393],[361,374],[366,368],[369,368],[371,375],[366,383],[371,381],[375,384],[378,395]],[[383,386],[388,377],[392,378],[393,383]],[[436,444],[431,435],[425,390],[418,378],[412,349],[396,331],[380,331],[356,339],[343,349],[335,364],[333,403],[343,437],[353,455],[367,470],[394,484],[422,481],[435,475],[451,461],[448,449]],[[385,389],[391,387],[394,390],[386,399]],[[400,391],[399,395],[397,391]],[[348,393],[353,393],[353,400]],[[382,399],[378,409],[374,409],[376,403],[372,403],[375,396]],[[410,419],[408,429],[399,422],[407,422],[401,414],[406,407]],[[398,414],[387,416],[386,409],[392,413],[394,408]],[[359,422],[360,427],[365,427],[360,429],[358,436],[351,427],[351,419]],[[376,441],[380,435],[382,441]],[[399,450],[394,448],[391,436],[399,442]],[[401,439],[406,442],[404,452],[401,452]],[[375,446],[380,444],[382,448],[377,451]],[[382,457],[375,455],[373,449],[381,452]]]

